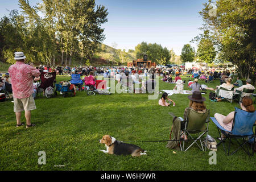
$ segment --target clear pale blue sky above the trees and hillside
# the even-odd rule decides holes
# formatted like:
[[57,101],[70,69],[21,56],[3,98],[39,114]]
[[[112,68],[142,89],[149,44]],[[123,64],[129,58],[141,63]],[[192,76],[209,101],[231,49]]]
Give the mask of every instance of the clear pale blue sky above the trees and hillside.
[[[30,0],[32,6],[40,0]],[[135,49],[141,42],[173,48],[180,55],[184,44],[199,35],[203,20],[199,11],[207,0],[96,0],[108,9],[104,44],[115,48]],[[19,9],[18,0],[0,0],[0,17]],[[192,44],[192,43],[191,43]],[[196,44],[192,44],[196,48]]]

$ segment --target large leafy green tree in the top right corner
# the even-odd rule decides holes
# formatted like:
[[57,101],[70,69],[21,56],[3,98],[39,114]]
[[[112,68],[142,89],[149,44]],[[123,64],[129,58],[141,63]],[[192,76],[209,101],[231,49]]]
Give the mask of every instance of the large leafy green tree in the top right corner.
[[[212,14],[213,6],[216,6]],[[237,65],[242,77],[256,68],[256,1],[208,0],[199,13],[216,42],[221,60]]]

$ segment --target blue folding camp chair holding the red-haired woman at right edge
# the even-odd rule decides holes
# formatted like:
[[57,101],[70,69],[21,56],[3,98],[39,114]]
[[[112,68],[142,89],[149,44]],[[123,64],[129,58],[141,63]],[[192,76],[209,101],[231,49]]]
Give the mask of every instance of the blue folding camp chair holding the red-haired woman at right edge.
[[[217,126],[220,138],[221,133],[225,135],[225,138],[221,138],[221,141],[217,144],[217,146],[223,144],[224,151],[229,155],[230,144],[232,143],[232,139],[234,139],[239,144],[239,147],[236,150],[234,150],[230,155],[235,154],[240,148],[242,148],[247,155],[254,155],[255,132],[253,133],[253,126],[255,126],[254,122],[256,121],[256,111],[254,111],[254,113],[249,113],[245,110],[238,109],[237,107],[235,107],[232,131],[224,129],[214,117],[210,117],[210,119],[212,119],[214,124]],[[242,143],[238,141],[239,138],[242,139]],[[226,151],[225,148],[226,140],[229,140],[228,151]],[[250,148],[248,149],[248,147],[245,147],[245,145],[249,144],[249,142],[253,143],[251,144],[251,154]]]

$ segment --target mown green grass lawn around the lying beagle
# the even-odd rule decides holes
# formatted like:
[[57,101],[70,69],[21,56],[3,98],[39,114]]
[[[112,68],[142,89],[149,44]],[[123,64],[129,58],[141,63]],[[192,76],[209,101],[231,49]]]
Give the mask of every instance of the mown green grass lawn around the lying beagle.
[[[182,77],[188,80],[187,77]],[[69,80],[57,76],[57,82]],[[186,81],[187,83],[187,81]],[[203,84],[203,81],[200,81]],[[220,81],[207,84],[215,88]],[[173,89],[175,84],[159,81],[160,89]],[[184,89],[189,90],[187,87]],[[205,104],[214,113],[228,114],[237,102],[209,101]],[[217,164],[209,164],[209,150],[200,151],[196,145],[187,152],[166,148],[167,142],[140,142],[141,140],[168,140],[172,111],[183,117],[188,106],[188,94],[169,96],[176,106],[162,107],[157,100],[148,100],[147,94],[111,94],[87,96],[78,92],[75,97],[36,98],[37,109],[32,111],[36,127],[16,128],[13,102],[0,102],[0,169],[1,170],[255,170],[256,158],[245,152],[227,156],[218,147]],[[254,105],[256,106],[256,105]],[[26,122],[24,115],[22,122]],[[104,154],[105,145],[98,142],[105,134],[118,140],[134,141],[147,155],[139,158]],[[209,135],[216,138],[218,131],[209,123]],[[46,165],[38,164],[38,152],[46,152]],[[64,165],[63,167],[57,167]]]

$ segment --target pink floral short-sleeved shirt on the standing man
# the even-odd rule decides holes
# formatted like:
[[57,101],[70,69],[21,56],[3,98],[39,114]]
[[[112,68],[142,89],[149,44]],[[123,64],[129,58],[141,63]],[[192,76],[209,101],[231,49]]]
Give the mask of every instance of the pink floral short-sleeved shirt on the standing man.
[[14,98],[30,97],[33,91],[33,76],[38,77],[38,69],[20,61],[10,66],[8,70],[11,77],[11,88]]

